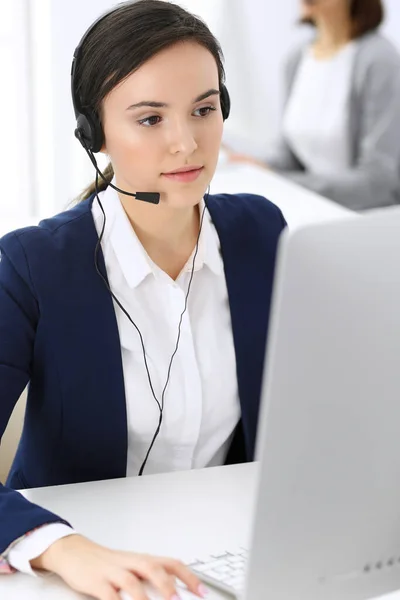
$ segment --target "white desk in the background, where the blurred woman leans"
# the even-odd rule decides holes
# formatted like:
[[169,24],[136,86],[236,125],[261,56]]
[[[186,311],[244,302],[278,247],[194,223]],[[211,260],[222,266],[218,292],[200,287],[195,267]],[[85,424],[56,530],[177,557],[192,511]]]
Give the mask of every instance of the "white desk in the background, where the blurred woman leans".
[[[222,164],[218,167],[211,182],[210,192],[212,194],[247,192],[265,196],[279,206],[291,229],[308,223],[340,219],[354,214],[272,171],[266,171],[253,165]],[[51,215],[44,215],[42,218],[45,216]],[[0,236],[20,227],[36,225],[39,221],[40,217],[24,215],[0,217]]]

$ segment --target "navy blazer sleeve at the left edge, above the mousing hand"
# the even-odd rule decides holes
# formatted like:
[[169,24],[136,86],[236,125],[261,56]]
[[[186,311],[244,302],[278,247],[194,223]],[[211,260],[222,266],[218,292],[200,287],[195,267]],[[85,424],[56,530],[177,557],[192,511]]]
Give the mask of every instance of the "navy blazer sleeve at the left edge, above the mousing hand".
[[[20,235],[0,240],[0,439],[29,382],[40,310]],[[66,521],[0,484],[0,564],[8,548],[26,533]]]

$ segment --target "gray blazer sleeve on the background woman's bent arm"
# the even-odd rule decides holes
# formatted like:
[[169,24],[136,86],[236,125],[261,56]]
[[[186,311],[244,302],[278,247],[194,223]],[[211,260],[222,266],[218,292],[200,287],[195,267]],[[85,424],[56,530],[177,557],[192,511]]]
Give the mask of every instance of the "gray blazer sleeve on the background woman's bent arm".
[[285,173],[353,210],[396,204],[400,196],[400,60],[394,53],[376,52],[360,76],[355,99],[361,123],[356,164],[334,175]]

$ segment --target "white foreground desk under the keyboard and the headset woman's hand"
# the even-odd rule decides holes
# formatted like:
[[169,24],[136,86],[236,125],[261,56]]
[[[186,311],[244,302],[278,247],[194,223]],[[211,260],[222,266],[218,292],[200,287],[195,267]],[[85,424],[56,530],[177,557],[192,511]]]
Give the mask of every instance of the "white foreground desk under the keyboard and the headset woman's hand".
[[[100,544],[191,560],[248,545],[256,474],[253,463],[39,488],[24,495]],[[0,598],[77,600],[83,596],[54,576],[34,579],[15,574],[0,577]],[[212,591],[208,598],[227,597]],[[400,600],[400,593],[384,600]]]

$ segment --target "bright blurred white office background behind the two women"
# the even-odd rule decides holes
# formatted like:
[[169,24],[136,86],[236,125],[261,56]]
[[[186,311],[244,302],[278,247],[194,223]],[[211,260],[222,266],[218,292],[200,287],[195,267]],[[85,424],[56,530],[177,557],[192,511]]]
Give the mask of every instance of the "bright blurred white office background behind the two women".
[[[75,45],[111,0],[13,0],[2,7],[0,219],[62,210],[92,179],[73,136],[70,66]],[[298,0],[182,0],[221,41],[232,96],[226,139],[260,156],[276,134],[282,62],[307,28]],[[399,0],[385,0],[384,31],[400,49]],[[103,158],[103,157],[101,157]],[[106,159],[100,160],[105,164]]]

